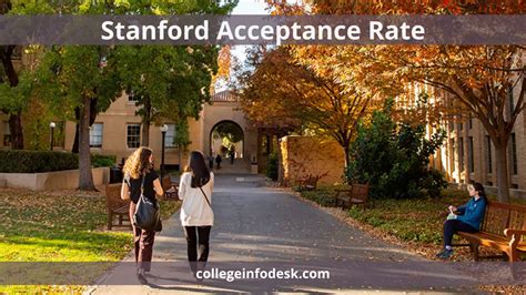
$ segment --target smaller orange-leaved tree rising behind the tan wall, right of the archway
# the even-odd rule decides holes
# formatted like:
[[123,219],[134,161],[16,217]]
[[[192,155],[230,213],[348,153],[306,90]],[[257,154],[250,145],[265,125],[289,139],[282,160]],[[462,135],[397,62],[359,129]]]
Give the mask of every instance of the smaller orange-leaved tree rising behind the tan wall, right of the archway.
[[344,91],[335,81],[299,65],[286,47],[259,50],[250,60],[253,71],[239,74],[249,118],[332,138],[344,149],[348,164],[348,146],[358,121],[371,113],[374,95],[357,88]]

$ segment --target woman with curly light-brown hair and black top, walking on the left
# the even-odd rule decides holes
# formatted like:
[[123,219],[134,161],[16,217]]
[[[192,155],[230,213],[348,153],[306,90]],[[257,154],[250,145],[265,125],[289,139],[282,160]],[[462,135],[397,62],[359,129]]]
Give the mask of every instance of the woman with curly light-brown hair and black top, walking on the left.
[[[162,196],[163,190],[159,176],[153,170],[152,150],[141,146],[133,152],[124,163],[124,180],[122,183],[121,197],[130,199],[130,221],[133,221],[136,203],[141,196],[141,190],[145,197],[156,202],[155,194]],[[133,242],[135,243],[135,262],[138,263],[136,276],[141,284],[146,284],[145,272],[150,272],[152,261],[153,240],[155,232],[144,231],[132,225]]]

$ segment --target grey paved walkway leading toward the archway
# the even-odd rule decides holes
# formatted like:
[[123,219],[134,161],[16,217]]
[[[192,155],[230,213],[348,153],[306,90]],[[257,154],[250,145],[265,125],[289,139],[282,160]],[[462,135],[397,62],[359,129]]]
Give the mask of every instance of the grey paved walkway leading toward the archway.
[[261,176],[219,175],[214,191],[215,226],[208,268],[324,269],[331,272],[331,279],[196,283],[188,271],[176,213],[164,221],[163,232],[155,237],[149,285],[138,285],[130,255],[129,263],[119,264],[93,293],[474,291],[462,287],[474,285],[473,279],[449,265],[372,238],[294,195],[265,187]]

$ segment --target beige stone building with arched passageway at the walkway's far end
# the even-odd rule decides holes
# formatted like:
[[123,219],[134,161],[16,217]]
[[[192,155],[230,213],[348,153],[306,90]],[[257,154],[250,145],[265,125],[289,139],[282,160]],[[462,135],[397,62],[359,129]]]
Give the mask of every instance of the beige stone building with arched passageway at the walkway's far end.
[[[141,145],[141,116],[135,115],[135,99],[123,93],[110,108],[100,113],[90,129],[90,145],[92,153],[115,155],[118,161],[127,157]],[[8,149],[9,122],[6,116],[1,116],[2,126],[0,136],[0,148]],[[249,171],[249,160],[257,156],[257,130],[254,130],[239,110],[239,102],[231,92],[219,92],[211,98],[210,103],[203,105],[200,119],[189,120],[190,145],[181,149],[173,144],[175,125],[165,122],[168,131],[165,133],[165,164],[176,166],[180,163],[184,166],[188,161],[189,151],[200,150],[205,155],[219,152],[218,143],[212,139],[212,133],[218,126],[230,123],[239,126],[243,133],[243,140],[236,143],[235,157],[241,165],[246,164]],[[63,131],[63,132],[62,132]],[[74,122],[55,122],[57,134],[63,133],[63,138],[54,138],[54,149],[71,151],[75,134]],[[27,139],[28,140],[28,139]],[[161,161],[162,133],[161,126],[150,126],[150,148],[154,151],[155,162]]]

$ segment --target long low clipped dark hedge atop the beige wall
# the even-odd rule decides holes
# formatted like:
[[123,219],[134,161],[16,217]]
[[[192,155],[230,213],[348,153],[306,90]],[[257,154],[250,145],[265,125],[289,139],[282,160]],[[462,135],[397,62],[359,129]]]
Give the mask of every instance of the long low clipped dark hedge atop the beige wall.
[[0,151],[0,172],[37,173],[79,169],[77,154],[52,151]]

